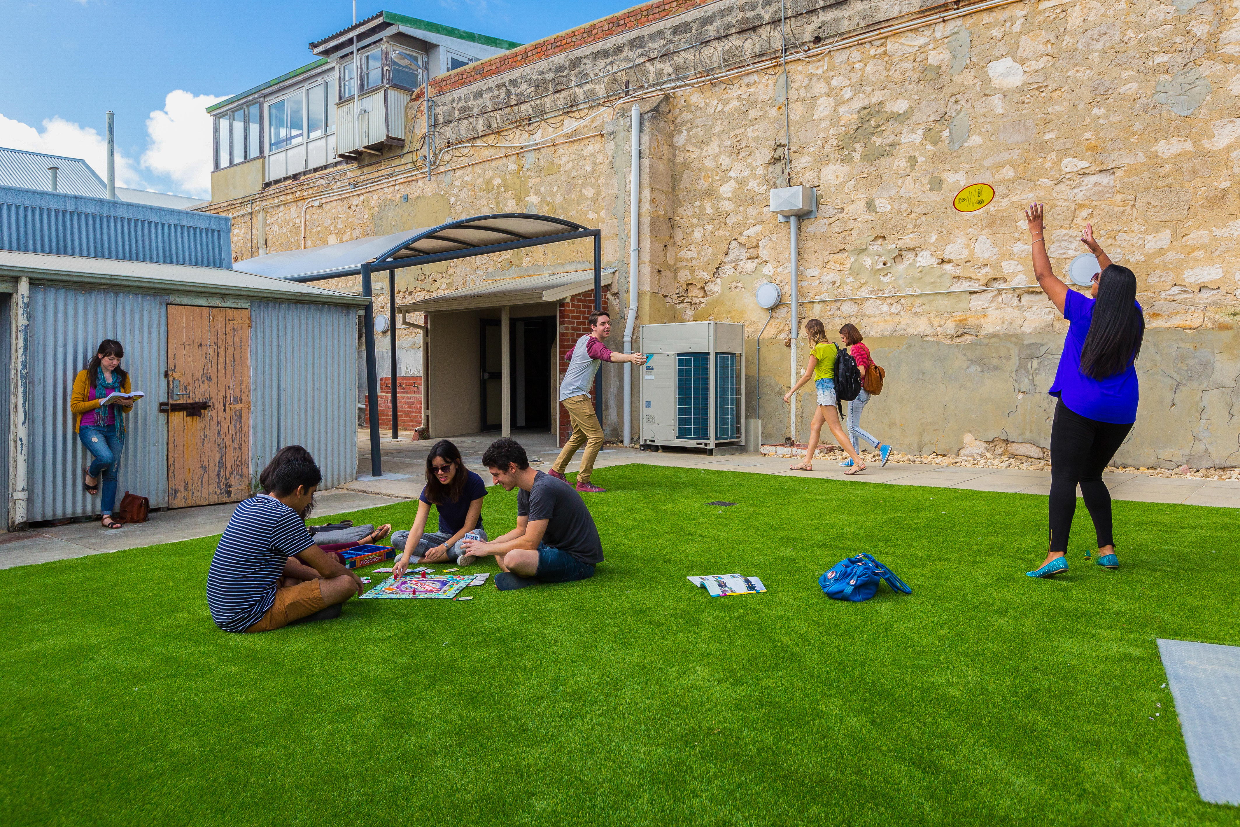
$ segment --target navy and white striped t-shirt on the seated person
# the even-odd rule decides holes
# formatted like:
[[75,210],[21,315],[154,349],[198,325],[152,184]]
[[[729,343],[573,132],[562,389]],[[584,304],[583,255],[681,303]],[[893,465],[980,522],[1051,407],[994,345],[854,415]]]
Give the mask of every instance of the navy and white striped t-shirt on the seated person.
[[226,632],[243,632],[275,603],[284,563],[314,546],[305,521],[260,493],[237,503],[207,572],[211,619]]

